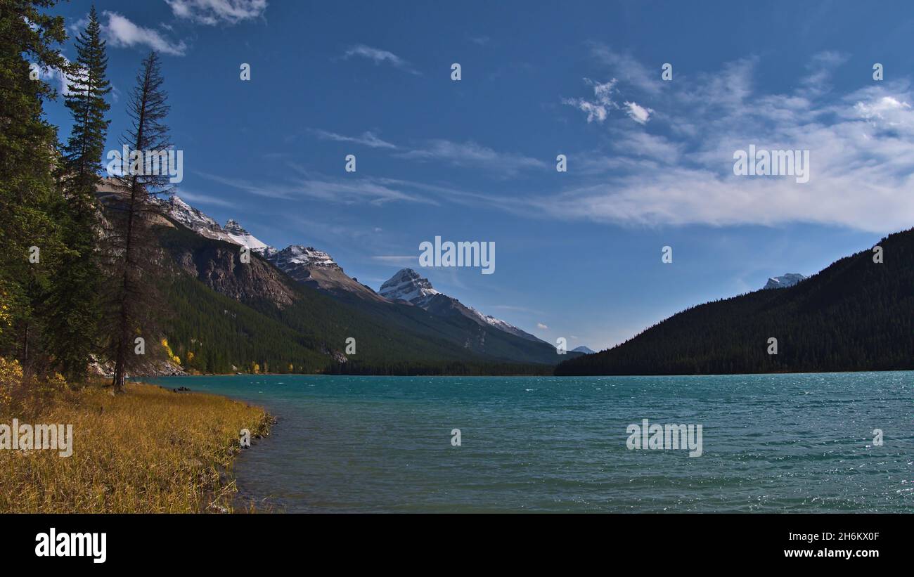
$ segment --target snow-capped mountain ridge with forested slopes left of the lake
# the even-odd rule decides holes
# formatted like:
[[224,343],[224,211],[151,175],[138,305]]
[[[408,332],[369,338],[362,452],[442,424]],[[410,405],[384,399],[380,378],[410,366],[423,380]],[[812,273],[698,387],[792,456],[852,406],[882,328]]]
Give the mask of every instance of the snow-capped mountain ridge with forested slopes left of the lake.
[[[99,194],[106,205],[124,198],[110,183]],[[160,243],[179,272],[162,279],[177,313],[167,335],[175,351],[194,353],[191,369],[227,372],[256,362],[274,372],[543,374],[561,360],[555,347],[456,299],[441,295],[429,310],[386,299],[324,251],[277,250],[237,221],[219,226],[177,197],[157,204]],[[239,246],[251,248],[246,266]],[[357,354],[344,351],[350,337]]]

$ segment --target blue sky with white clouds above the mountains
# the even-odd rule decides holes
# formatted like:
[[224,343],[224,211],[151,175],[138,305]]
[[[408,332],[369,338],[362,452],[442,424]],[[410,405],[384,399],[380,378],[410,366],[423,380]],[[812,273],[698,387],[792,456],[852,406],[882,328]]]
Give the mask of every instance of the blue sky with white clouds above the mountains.
[[[434,236],[494,241],[492,275],[420,272],[547,341],[599,350],[914,224],[909,3],[96,6],[110,148],[158,49],[187,202],[375,289]],[[810,151],[810,181],[734,175],[749,144]]]

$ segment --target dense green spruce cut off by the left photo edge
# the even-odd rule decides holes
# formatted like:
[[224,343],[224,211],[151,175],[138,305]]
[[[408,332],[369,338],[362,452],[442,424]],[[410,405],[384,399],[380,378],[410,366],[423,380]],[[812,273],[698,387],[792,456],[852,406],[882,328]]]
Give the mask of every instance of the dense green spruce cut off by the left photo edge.
[[[63,18],[44,11],[56,0],[0,3],[0,354],[40,365],[40,317],[55,255],[61,252],[51,214],[58,190],[57,131],[43,118],[56,92],[39,71],[64,69],[56,45]],[[34,247],[34,248],[33,248]]]

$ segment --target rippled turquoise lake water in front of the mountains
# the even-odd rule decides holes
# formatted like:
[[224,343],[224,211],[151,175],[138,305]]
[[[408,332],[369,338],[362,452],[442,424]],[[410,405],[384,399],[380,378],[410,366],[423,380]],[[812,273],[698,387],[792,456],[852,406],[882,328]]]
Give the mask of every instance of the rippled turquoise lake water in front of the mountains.
[[[914,512],[914,372],[153,382],[278,417],[235,466],[260,508]],[[703,454],[630,450],[644,418],[702,425]]]

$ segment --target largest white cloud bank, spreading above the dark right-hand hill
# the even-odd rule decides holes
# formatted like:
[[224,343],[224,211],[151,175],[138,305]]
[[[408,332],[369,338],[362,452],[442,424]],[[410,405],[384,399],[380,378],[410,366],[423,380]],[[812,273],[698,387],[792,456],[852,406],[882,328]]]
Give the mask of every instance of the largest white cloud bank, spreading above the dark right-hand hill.
[[[627,225],[764,225],[792,222],[847,226],[873,232],[914,222],[914,111],[909,96],[853,95],[837,107],[844,120],[824,124],[810,108],[792,123],[777,113],[754,121],[738,111],[709,120],[688,158],[614,159],[603,183],[526,198],[524,209],[569,219]],[[749,144],[771,150],[809,150],[811,177],[739,177],[732,154]],[[651,146],[654,145],[652,149]],[[684,144],[685,145],[685,144]],[[643,142],[663,154],[664,142]],[[621,151],[619,151],[621,152]],[[671,156],[669,160],[675,161]]]

